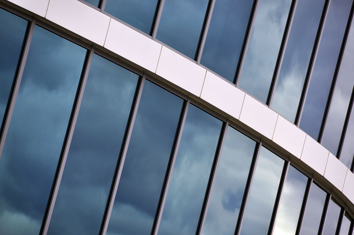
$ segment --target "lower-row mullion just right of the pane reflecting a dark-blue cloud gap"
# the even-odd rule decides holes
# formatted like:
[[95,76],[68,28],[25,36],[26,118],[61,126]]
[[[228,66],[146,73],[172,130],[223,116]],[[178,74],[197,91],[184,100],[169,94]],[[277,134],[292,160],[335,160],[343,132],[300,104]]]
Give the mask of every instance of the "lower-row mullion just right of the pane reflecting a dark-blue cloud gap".
[[255,152],[254,152],[254,155],[253,155],[250,171],[249,171],[247,182],[246,182],[246,186],[245,186],[245,192],[244,192],[244,195],[242,197],[239,217],[238,217],[238,220],[237,220],[237,223],[236,223],[235,235],[238,235],[241,232],[242,223],[243,223],[243,220],[244,220],[244,217],[245,217],[247,203],[248,203],[248,200],[249,200],[249,197],[250,197],[250,192],[251,192],[251,185],[252,185],[252,182],[253,182],[253,178],[255,176],[257,161],[258,161],[259,153],[261,151],[261,147],[262,147],[262,140],[259,143],[257,143],[256,147],[255,147]]

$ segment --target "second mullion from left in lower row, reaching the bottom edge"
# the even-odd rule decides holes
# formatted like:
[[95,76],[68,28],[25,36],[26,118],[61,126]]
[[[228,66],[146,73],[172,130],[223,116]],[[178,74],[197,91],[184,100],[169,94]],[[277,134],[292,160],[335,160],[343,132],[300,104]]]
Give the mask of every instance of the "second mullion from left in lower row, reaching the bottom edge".
[[55,201],[57,199],[57,195],[58,195],[58,191],[59,191],[60,182],[61,182],[63,172],[64,172],[65,162],[68,157],[69,148],[70,148],[70,144],[71,144],[71,141],[73,138],[73,133],[74,133],[76,121],[78,120],[78,114],[79,114],[79,110],[80,110],[80,106],[81,106],[81,102],[82,102],[82,97],[84,96],[84,90],[85,90],[85,86],[86,86],[86,82],[87,82],[87,77],[89,76],[89,71],[90,71],[90,67],[91,67],[91,63],[92,63],[93,52],[94,52],[93,47],[91,48],[90,51],[87,51],[85,63],[83,65],[83,69],[82,69],[82,73],[81,73],[81,79],[80,79],[80,82],[78,85],[79,87],[76,92],[76,97],[75,97],[72,113],[71,113],[70,119],[69,119],[67,133],[65,134],[65,138],[64,138],[64,144],[63,144],[62,151],[61,151],[61,157],[59,158],[57,170],[56,170],[55,177],[53,180],[54,182],[53,182],[50,196],[48,199],[47,208],[44,213],[44,218],[43,218],[40,234],[47,234],[47,232],[48,232],[50,219],[52,217]]

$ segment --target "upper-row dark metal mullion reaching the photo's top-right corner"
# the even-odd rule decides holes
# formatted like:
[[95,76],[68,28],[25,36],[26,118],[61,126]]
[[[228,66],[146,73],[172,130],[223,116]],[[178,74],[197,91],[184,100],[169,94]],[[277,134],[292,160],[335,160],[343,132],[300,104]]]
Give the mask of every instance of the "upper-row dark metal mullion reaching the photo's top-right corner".
[[353,11],[354,11],[354,1],[353,1],[353,4],[352,4],[352,8],[350,9],[349,18],[348,18],[348,22],[347,22],[347,28],[346,28],[346,31],[345,31],[344,36],[343,36],[341,50],[339,51],[339,56],[338,56],[335,72],[333,74],[333,80],[332,80],[330,92],[329,92],[329,95],[328,95],[328,99],[327,99],[327,103],[326,103],[326,107],[325,107],[325,112],[324,112],[324,115],[323,115],[323,118],[322,118],[321,127],[320,127],[320,131],[319,131],[319,134],[318,134],[317,141],[319,143],[322,142],[323,132],[324,132],[324,129],[325,129],[325,126],[326,126],[326,121],[327,121],[327,117],[328,117],[328,114],[329,114],[329,110],[331,108],[333,94],[334,94],[334,91],[335,91],[335,88],[336,88],[336,82],[337,82],[337,77],[338,77],[338,73],[339,73],[339,68],[341,67],[341,63],[342,63],[342,59],[343,59],[343,55],[344,55],[344,50],[346,49],[346,44],[347,44],[347,40],[348,40],[348,36],[349,36],[349,31],[350,31],[350,27],[351,27],[351,24],[352,24]]

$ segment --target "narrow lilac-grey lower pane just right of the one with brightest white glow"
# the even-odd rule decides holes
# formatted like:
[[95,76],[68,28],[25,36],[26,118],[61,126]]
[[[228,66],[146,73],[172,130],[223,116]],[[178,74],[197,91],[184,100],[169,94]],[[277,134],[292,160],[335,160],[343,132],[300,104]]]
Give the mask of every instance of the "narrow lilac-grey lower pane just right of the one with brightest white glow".
[[311,183],[300,234],[307,235],[318,233],[326,196],[327,193],[325,191],[320,189],[315,183]]

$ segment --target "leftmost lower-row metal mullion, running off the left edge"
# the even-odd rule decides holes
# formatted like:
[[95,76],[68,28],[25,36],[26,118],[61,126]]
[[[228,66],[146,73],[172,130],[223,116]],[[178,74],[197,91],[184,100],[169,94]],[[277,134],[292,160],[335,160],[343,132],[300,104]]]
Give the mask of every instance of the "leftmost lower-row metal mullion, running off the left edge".
[[15,78],[14,78],[14,81],[13,81],[13,84],[12,84],[12,88],[11,88],[9,101],[8,101],[8,104],[7,104],[7,107],[6,107],[6,110],[5,110],[5,115],[4,115],[4,118],[3,118],[3,121],[2,121],[2,130],[1,130],[1,133],[0,133],[1,134],[1,136],[0,136],[0,157],[1,157],[1,154],[2,154],[2,150],[4,149],[6,135],[7,135],[8,127],[10,126],[10,121],[11,121],[13,109],[15,107],[17,94],[18,94],[18,89],[19,89],[19,86],[21,84],[23,70],[24,70],[24,67],[25,67],[26,60],[27,60],[29,47],[30,47],[30,44],[31,44],[31,41],[32,41],[32,36],[33,36],[33,31],[34,31],[35,24],[36,24],[36,19],[33,18],[32,22],[30,22],[30,25],[27,28],[27,35],[26,35],[26,38],[24,40],[25,42],[24,42],[24,45],[23,45],[20,62],[19,62],[18,67],[17,67],[16,75],[15,75]]

